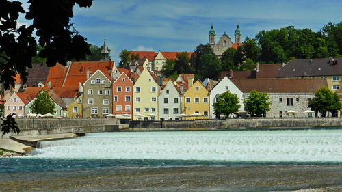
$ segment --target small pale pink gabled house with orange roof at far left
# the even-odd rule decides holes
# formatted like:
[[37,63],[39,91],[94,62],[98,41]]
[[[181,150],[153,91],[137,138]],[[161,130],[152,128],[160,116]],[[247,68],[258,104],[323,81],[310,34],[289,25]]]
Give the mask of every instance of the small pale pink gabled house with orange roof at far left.
[[27,105],[30,101],[31,98],[29,95],[14,92],[14,94],[12,94],[12,96],[5,102],[5,116],[11,113],[25,115],[25,105]]

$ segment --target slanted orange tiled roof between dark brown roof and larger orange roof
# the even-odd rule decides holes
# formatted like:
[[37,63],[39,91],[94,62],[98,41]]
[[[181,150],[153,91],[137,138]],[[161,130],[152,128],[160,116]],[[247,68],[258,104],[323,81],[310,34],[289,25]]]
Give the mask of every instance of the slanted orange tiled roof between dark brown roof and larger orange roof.
[[48,87],[48,81],[51,82],[51,87],[62,87],[67,70],[68,68],[62,64],[56,64],[55,66],[51,67],[44,87]]

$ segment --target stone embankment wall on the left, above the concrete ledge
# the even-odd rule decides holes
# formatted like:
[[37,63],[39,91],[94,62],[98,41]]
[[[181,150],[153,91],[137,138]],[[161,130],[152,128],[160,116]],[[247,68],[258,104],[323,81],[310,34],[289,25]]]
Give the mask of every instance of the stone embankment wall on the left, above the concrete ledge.
[[[57,133],[89,133],[116,131],[120,124],[115,118],[24,118],[16,119],[19,135],[44,135]],[[10,135],[16,135],[10,133]],[[8,138],[6,134],[3,138]]]

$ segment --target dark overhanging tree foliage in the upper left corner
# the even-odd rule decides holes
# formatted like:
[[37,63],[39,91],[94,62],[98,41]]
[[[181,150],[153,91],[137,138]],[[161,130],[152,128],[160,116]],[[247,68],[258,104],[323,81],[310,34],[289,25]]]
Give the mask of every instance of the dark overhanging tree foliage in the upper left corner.
[[[84,59],[90,54],[86,38],[70,23],[75,4],[86,8],[92,0],[30,0],[28,12],[19,1],[0,1],[0,83],[4,83],[5,89],[9,85],[14,87],[16,73],[26,82],[27,68],[31,68],[32,57],[37,55],[36,38],[39,46],[44,47],[38,56],[46,59],[47,66],[57,62],[66,65],[71,59]],[[19,14],[25,14],[32,24],[18,27]]]

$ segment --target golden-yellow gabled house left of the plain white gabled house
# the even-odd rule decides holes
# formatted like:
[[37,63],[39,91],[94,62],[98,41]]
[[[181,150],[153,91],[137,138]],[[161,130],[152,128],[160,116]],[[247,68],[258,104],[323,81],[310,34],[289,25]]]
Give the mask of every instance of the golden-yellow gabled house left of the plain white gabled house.
[[182,101],[182,112],[186,115],[187,120],[209,119],[209,92],[200,83],[196,81],[192,85],[192,81],[188,82],[189,88],[184,93]]

